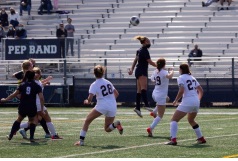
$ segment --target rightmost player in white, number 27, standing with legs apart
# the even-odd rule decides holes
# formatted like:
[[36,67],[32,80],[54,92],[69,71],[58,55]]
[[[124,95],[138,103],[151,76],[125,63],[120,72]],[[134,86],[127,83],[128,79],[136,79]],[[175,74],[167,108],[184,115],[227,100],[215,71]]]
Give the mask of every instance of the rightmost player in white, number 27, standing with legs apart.
[[187,120],[189,124],[192,126],[197,136],[197,143],[206,143],[199,125],[195,122],[195,118],[200,107],[200,100],[203,96],[203,89],[196,78],[191,75],[188,64],[181,64],[179,66],[179,73],[181,74],[177,78],[179,91],[173,102],[173,105],[176,106],[180,98],[182,98],[182,102],[179,104],[172,116],[170,122],[171,140],[166,144],[177,145],[176,137],[178,131],[178,122],[186,115],[188,116]]

